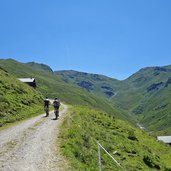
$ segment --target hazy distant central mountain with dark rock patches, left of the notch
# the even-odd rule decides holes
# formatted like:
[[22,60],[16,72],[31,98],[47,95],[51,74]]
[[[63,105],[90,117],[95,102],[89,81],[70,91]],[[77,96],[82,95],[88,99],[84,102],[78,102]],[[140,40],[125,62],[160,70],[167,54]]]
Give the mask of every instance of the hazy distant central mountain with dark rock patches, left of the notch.
[[88,92],[110,99],[117,93],[120,81],[98,74],[88,74],[77,71],[56,71],[55,74],[66,83],[81,87]]

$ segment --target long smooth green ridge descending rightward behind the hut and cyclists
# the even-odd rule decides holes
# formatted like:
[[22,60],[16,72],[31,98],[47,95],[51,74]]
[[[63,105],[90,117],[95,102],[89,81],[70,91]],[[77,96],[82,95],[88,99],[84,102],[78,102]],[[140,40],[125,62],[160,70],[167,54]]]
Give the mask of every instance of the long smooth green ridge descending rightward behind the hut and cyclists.
[[49,98],[59,97],[68,104],[84,105],[104,110],[110,114],[116,112],[115,117],[125,118],[128,116],[113,104],[101,97],[97,97],[82,88],[63,81],[52,69],[44,64],[34,62],[20,63],[13,59],[0,60],[0,66],[16,77],[34,77],[38,85],[38,90]]

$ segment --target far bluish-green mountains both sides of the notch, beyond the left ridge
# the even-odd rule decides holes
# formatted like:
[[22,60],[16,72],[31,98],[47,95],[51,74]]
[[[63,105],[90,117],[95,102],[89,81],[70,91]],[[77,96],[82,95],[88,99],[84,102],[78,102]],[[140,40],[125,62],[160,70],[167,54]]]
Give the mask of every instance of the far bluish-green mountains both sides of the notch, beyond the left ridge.
[[171,66],[144,68],[123,81],[76,71],[55,73],[66,83],[108,100],[153,134],[171,134]]

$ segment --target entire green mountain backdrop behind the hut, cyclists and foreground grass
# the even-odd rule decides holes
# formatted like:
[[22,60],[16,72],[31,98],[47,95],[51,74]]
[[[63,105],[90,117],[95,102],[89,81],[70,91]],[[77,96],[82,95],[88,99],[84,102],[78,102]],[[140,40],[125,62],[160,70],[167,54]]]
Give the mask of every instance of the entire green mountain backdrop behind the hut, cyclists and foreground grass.
[[0,60],[0,67],[15,77],[35,77],[38,90],[71,105],[116,113],[139,122],[154,135],[171,134],[171,66],[141,69],[126,80],[77,71],[56,71],[44,64]]

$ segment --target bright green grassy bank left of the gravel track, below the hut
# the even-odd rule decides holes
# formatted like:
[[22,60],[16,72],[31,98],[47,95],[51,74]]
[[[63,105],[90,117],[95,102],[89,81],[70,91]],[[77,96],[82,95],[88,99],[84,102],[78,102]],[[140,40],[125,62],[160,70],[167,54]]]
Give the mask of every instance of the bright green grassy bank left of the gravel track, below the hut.
[[42,112],[42,95],[0,68],[0,126]]

